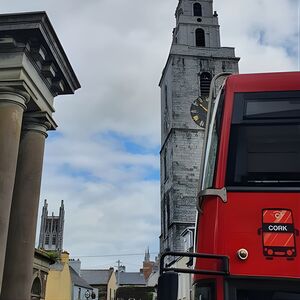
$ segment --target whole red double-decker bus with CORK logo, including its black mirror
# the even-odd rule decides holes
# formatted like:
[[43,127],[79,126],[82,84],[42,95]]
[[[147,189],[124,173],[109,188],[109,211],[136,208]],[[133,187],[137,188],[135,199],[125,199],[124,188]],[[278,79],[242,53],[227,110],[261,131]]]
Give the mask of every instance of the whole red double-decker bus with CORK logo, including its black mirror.
[[[162,255],[158,298],[177,299],[176,273],[191,272],[193,300],[300,299],[300,72],[224,77],[211,87],[195,253]],[[168,255],[193,269],[166,267]]]

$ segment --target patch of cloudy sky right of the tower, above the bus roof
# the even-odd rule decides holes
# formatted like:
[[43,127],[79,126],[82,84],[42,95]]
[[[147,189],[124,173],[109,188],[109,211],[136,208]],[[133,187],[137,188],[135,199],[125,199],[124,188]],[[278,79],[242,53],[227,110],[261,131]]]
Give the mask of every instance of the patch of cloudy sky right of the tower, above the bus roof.
[[[240,72],[292,71],[297,68],[296,1],[215,1],[222,44],[234,46]],[[291,56],[294,54],[294,56]]]

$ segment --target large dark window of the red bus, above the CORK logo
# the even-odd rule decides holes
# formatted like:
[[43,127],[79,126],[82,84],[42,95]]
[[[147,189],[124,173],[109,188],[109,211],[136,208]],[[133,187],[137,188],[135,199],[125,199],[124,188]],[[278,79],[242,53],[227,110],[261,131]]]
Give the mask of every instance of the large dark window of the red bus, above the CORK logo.
[[300,93],[239,93],[229,141],[227,186],[300,186]]

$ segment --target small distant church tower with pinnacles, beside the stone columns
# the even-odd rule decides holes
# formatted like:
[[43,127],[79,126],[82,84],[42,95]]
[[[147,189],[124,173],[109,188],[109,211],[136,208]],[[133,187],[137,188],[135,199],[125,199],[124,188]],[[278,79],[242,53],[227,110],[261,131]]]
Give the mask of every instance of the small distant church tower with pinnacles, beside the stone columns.
[[41,217],[40,249],[59,252],[63,250],[64,221],[64,201],[61,201],[58,216],[54,216],[53,213],[51,216],[48,216],[48,204],[47,200],[45,200]]

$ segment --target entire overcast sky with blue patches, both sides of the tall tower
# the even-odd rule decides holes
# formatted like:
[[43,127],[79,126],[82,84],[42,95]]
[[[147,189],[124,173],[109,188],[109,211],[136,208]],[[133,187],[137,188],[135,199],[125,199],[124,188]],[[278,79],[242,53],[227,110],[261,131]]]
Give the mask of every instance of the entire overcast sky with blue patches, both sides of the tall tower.
[[[55,101],[59,127],[46,143],[40,210],[47,199],[57,214],[65,201],[64,249],[84,268],[120,259],[138,271],[143,255],[122,254],[159,250],[158,82],[177,2],[1,3],[3,13],[47,12],[82,85]],[[236,48],[241,73],[298,69],[298,0],[215,0],[214,9],[221,44]]]

